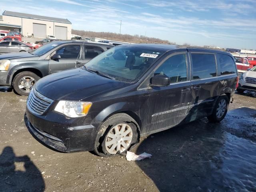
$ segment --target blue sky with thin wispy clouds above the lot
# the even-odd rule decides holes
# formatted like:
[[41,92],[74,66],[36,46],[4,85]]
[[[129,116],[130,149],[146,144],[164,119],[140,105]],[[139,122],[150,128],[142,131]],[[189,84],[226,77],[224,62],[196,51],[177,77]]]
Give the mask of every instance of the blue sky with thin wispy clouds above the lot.
[[0,9],[68,18],[73,29],[256,49],[256,0],[1,0]]

